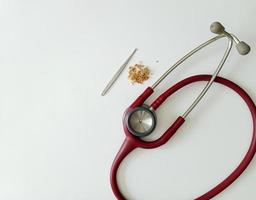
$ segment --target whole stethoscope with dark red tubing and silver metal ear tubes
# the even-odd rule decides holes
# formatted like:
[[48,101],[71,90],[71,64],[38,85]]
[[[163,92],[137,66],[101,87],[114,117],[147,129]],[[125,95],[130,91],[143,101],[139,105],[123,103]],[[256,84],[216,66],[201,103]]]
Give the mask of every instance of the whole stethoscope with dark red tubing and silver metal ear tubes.
[[[211,189],[210,191],[206,192],[205,194],[197,197],[195,199],[198,200],[208,200],[222,192],[226,189],[230,184],[232,184],[247,168],[256,151],[256,107],[250,96],[237,84],[233,83],[232,81],[219,77],[218,74],[223,67],[230,50],[232,48],[233,42],[236,43],[236,48],[241,55],[245,55],[249,53],[250,47],[243,41],[239,41],[239,39],[231,33],[225,31],[225,28],[219,23],[214,22],[211,24],[210,27],[213,33],[218,34],[214,38],[206,41],[205,43],[199,45],[194,50],[186,54],[183,58],[181,58],[177,63],[175,63],[165,74],[163,74],[160,79],[152,86],[148,87],[125,111],[123,116],[123,128],[125,132],[125,140],[116,155],[116,158],[113,162],[110,174],[111,186],[112,190],[118,200],[125,200],[126,198],[120,192],[118,184],[117,184],[117,171],[124,160],[124,158],[132,152],[136,148],[143,148],[143,149],[153,149],[160,147],[161,145],[165,144],[179,129],[179,127],[185,122],[185,118],[188,114],[193,110],[193,108],[198,104],[198,102],[202,99],[208,89],[211,87],[213,82],[222,84],[233,91],[235,91],[238,95],[242,97],[245,101],[246,105],[248,106],[253,121],[253,136],[251,140],[250,147],[244,156],[243,160],[237,166],[237,168],[222,182],[220,182],[216,187]],[[200,49],[204,48],[205,46],[209,45],[210,43],[222,38],[228,38],[228,47],[224,53],[222,60],[220,61],[217,69],[213,73],[213,75],[195,75],[188,77],[174,86],[170,87],[167,91],[161,94],[150,106],[144,104],[145,100],[154,92],[154,89],[162,80],[168,76],[178,65],[180,65],[184,60],[189,58],[191,55],[199,51]],[[156,109],[172,94],[174,94],[179,89],[185,87],[194,82],[198,81],[207,81],[206,86],[199,94],[199,96],[195,99],[192,105],[187,109],[187,111],[182,115],[179,116],[175,122],[165,131],[165,133],[157,140],[154,141],[144,141],[142,140],[143,137],[152,133],[156,126]]]

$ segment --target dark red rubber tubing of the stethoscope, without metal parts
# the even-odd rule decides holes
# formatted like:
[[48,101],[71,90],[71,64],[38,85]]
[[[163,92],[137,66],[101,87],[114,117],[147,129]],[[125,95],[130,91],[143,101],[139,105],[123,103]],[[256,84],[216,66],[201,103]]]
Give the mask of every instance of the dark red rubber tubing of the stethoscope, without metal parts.
[[[154,109],[157,109],[171,94],[175,93],[182,87],[189,85],[191,83],[194,83],[194,82],[198,82],[198,81],[209,81],[210,79],[211,79],[211,75],[196,75],[196,76],[188,77],[188,78],[178,82],[177,84],[175,84],[174,86],[169,88],[166,92],[164,92],[162,95],[160,95],[151,104],[151,106]],[[220,192],[222,192],[223,190],[225,190],[229,185],[231,185],[244,172],[244,170],[247,168],[247,166],[253,159],[255,152],[256,152],[256,107],[255,107],[254,102],[252,101],[250,96],[241,87],[239,87],[237,84],[233,83],[232,81],[225,79],[225,78],[221,78],[221,77],[217,77],[214,81],[234,90],[245,101],[245,103],[247,104],[247,106],[250,110],[250,113],[252,115],[253,136],[252,136],[252,140],[251,140],[249,149],[248,149],[247,153],[245,154],[243,160],[237,166],[237,168],[228,177],[226,177],[222,182],[220,182],[217,186],[215,186],[213,189],[211,189],[210,191],[201,195],[200,197],[195,198],[196,200],[209,200],[209,199],[213,198],[214,196],[216,196],[217,194],[219,194]],[[150,90],[149,88],[146,91],[147,91],[146,93],[148,96],[153,92],[153,90],[152,89]],[[141,96],[143,96],[144,100],[147,98],[146,95],[141,95]],[[137,102],[139,101],[139,103],[141,103],[141,104],[144,102],[144,101],[138,100],[138,99],[136,100]],[[135,105],[137,105],[135,102],[132,104],[133,107]],[[111,173],[110,173],[111,187],[112,187],[112,190],[118,200],[125,200],[125,197],[122,195],[122,193],[120,192],[120,190],[118,188],[118,184],[117,184],[117,180],[116,180],[117,171],[118,171],[118,168],[119,168],[121,162],[123,161],[123,159],[135,148],[156,148],[160,145],[165,144],[170,139],[170,137],[172,135],[174,135],[174,133],[183,124],[183,122],[184,122],[184,119],[179,117],[173,123],[173,125],[169,129],[167,129],[167,131],[166,131],[167,134],[164,133],[162,137],[160,137],[158,140],[156,140],[156,141],[158,141],[157,143],[155,143],[156,141],[146,142],[146,141],[142,141],[142,140],[136,138],[135,136],[131,135],[128,132],[127,127],[124,124],[124,131],[126,133],[126,138],[125,138],[124,143],[121,146],[118,154],[116,155],[116,158],[112,164]],[[164,137],[164,135],[165,135],[165,137]],[[151,144],[146,145],[146,143],[151,143]]]

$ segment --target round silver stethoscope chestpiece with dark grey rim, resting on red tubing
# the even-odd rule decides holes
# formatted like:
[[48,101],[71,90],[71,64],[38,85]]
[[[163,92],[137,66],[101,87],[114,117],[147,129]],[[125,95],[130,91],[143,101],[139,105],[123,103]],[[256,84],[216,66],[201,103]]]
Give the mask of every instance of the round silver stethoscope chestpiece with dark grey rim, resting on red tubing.
[[156,115],[147,105],[134,108],[127,115],[127,128],[134,136],[145,137],[156,127]]

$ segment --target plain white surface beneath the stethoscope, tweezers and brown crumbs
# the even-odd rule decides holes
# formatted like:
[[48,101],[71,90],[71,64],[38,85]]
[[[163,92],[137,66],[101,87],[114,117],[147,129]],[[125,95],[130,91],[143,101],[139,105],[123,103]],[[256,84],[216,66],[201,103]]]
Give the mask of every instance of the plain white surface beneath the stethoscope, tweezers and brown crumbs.
[[[221,76],[255,101],[255,13],[254,0],[1,0],[0,199],[115,199],[109,171],[124,140],[123,111],[177,59],[213,37],[213,21],[251,45],[247,56],[232,50]],[[185,62],[151,100],[182,78],[212,73],[226,44],[222,39]],[[151,78],[132,85],[126,70],[100,96],[135,47],[130,65],[143,61]],[[151,138],[204,84],[186,87],[159,108]],[[168,144],[129,155],[119,170],[121,190],[133,200],[198,197],[238,165],[251,134],[243,101],[214,85]],[[254,159],[215,199],[255,199],[255,166]]]

